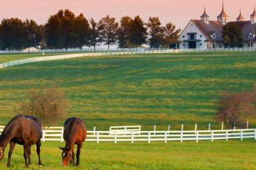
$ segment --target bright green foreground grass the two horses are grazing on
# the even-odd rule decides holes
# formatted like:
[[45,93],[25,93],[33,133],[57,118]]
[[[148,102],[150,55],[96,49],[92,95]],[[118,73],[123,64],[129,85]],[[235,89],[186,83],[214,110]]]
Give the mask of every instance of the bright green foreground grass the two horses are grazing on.
[[[204,141],[170,143],[90,143],[81,150],[80,167],[60,167],[60,142],[45,142],[41,147],[43,167],[38,165],[32,146],[32,164],[28,169],[256,169],[256,142]],[[0,169],[23,169],[23,147],[14,148],[11,168],[6,168],[9,148]]]

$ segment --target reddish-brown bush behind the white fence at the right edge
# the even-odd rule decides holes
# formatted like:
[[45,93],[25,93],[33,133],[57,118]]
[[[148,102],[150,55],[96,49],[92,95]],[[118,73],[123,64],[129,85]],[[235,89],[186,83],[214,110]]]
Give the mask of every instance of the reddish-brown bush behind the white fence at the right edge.
[[228,129],[245,128],[248,118],[255,116],[256,86],[252,92],[225,92],[218,103],[218,121]]

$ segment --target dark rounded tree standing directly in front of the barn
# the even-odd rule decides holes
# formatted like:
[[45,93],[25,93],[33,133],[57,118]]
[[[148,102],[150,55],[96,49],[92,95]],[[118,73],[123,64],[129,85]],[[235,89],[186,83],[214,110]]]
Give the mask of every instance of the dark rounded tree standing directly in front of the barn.
[[222,38],[224,39],[225,46],[242,47],[242,29],[237,25],[237,23],[226,24],[223,27]]

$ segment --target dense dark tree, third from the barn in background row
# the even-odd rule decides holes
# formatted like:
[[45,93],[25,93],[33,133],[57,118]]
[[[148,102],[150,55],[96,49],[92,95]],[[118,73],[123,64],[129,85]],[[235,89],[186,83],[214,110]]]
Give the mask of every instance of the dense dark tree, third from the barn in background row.
[[130,23],[130,43],[131,45],[141,46],[147,42],[147,28],[145,23],[138,16],[135,16]]

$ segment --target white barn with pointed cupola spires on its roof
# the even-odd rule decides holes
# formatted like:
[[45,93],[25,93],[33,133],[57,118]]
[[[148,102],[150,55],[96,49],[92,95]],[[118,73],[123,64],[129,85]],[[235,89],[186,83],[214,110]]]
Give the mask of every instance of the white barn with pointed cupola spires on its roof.
[[225,24],[237,23],[242,29],[243,46],[256,48],[256,11],[251,14],[251,20],[245,21],[240,10],[240,15],[236,22],[229,22],[229,16],[224,10],[222,3],[221,14],[217,16],[217,20],[209,20],[209,15],[205,11],[201,15],[201,20],[192,19],[180,33],[180,49],[212,49],[225,48],[222,39],[222,27]]

